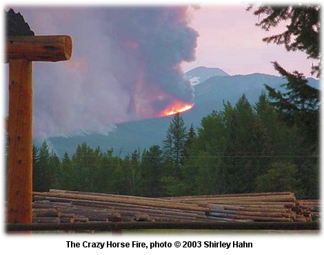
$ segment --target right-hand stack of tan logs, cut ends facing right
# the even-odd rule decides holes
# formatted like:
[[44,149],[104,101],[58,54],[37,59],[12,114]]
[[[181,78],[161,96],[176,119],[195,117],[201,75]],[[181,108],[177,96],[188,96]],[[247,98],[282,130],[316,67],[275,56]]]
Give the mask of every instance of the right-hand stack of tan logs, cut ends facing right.
[[292,192],[168,197],[174,202],[207,205],[207,218],[215,221],[310,221]]

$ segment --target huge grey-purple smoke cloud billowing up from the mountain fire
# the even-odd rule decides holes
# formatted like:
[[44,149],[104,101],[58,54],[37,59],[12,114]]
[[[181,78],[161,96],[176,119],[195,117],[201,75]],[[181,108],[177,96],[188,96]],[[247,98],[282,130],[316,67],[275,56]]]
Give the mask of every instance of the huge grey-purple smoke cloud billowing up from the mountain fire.
[[192,105],[180,67],[194,60],[198,37],[188,7],[13,9],[35,34],[73,40],[70,61],[34,63],[35,137],[106,134]]

